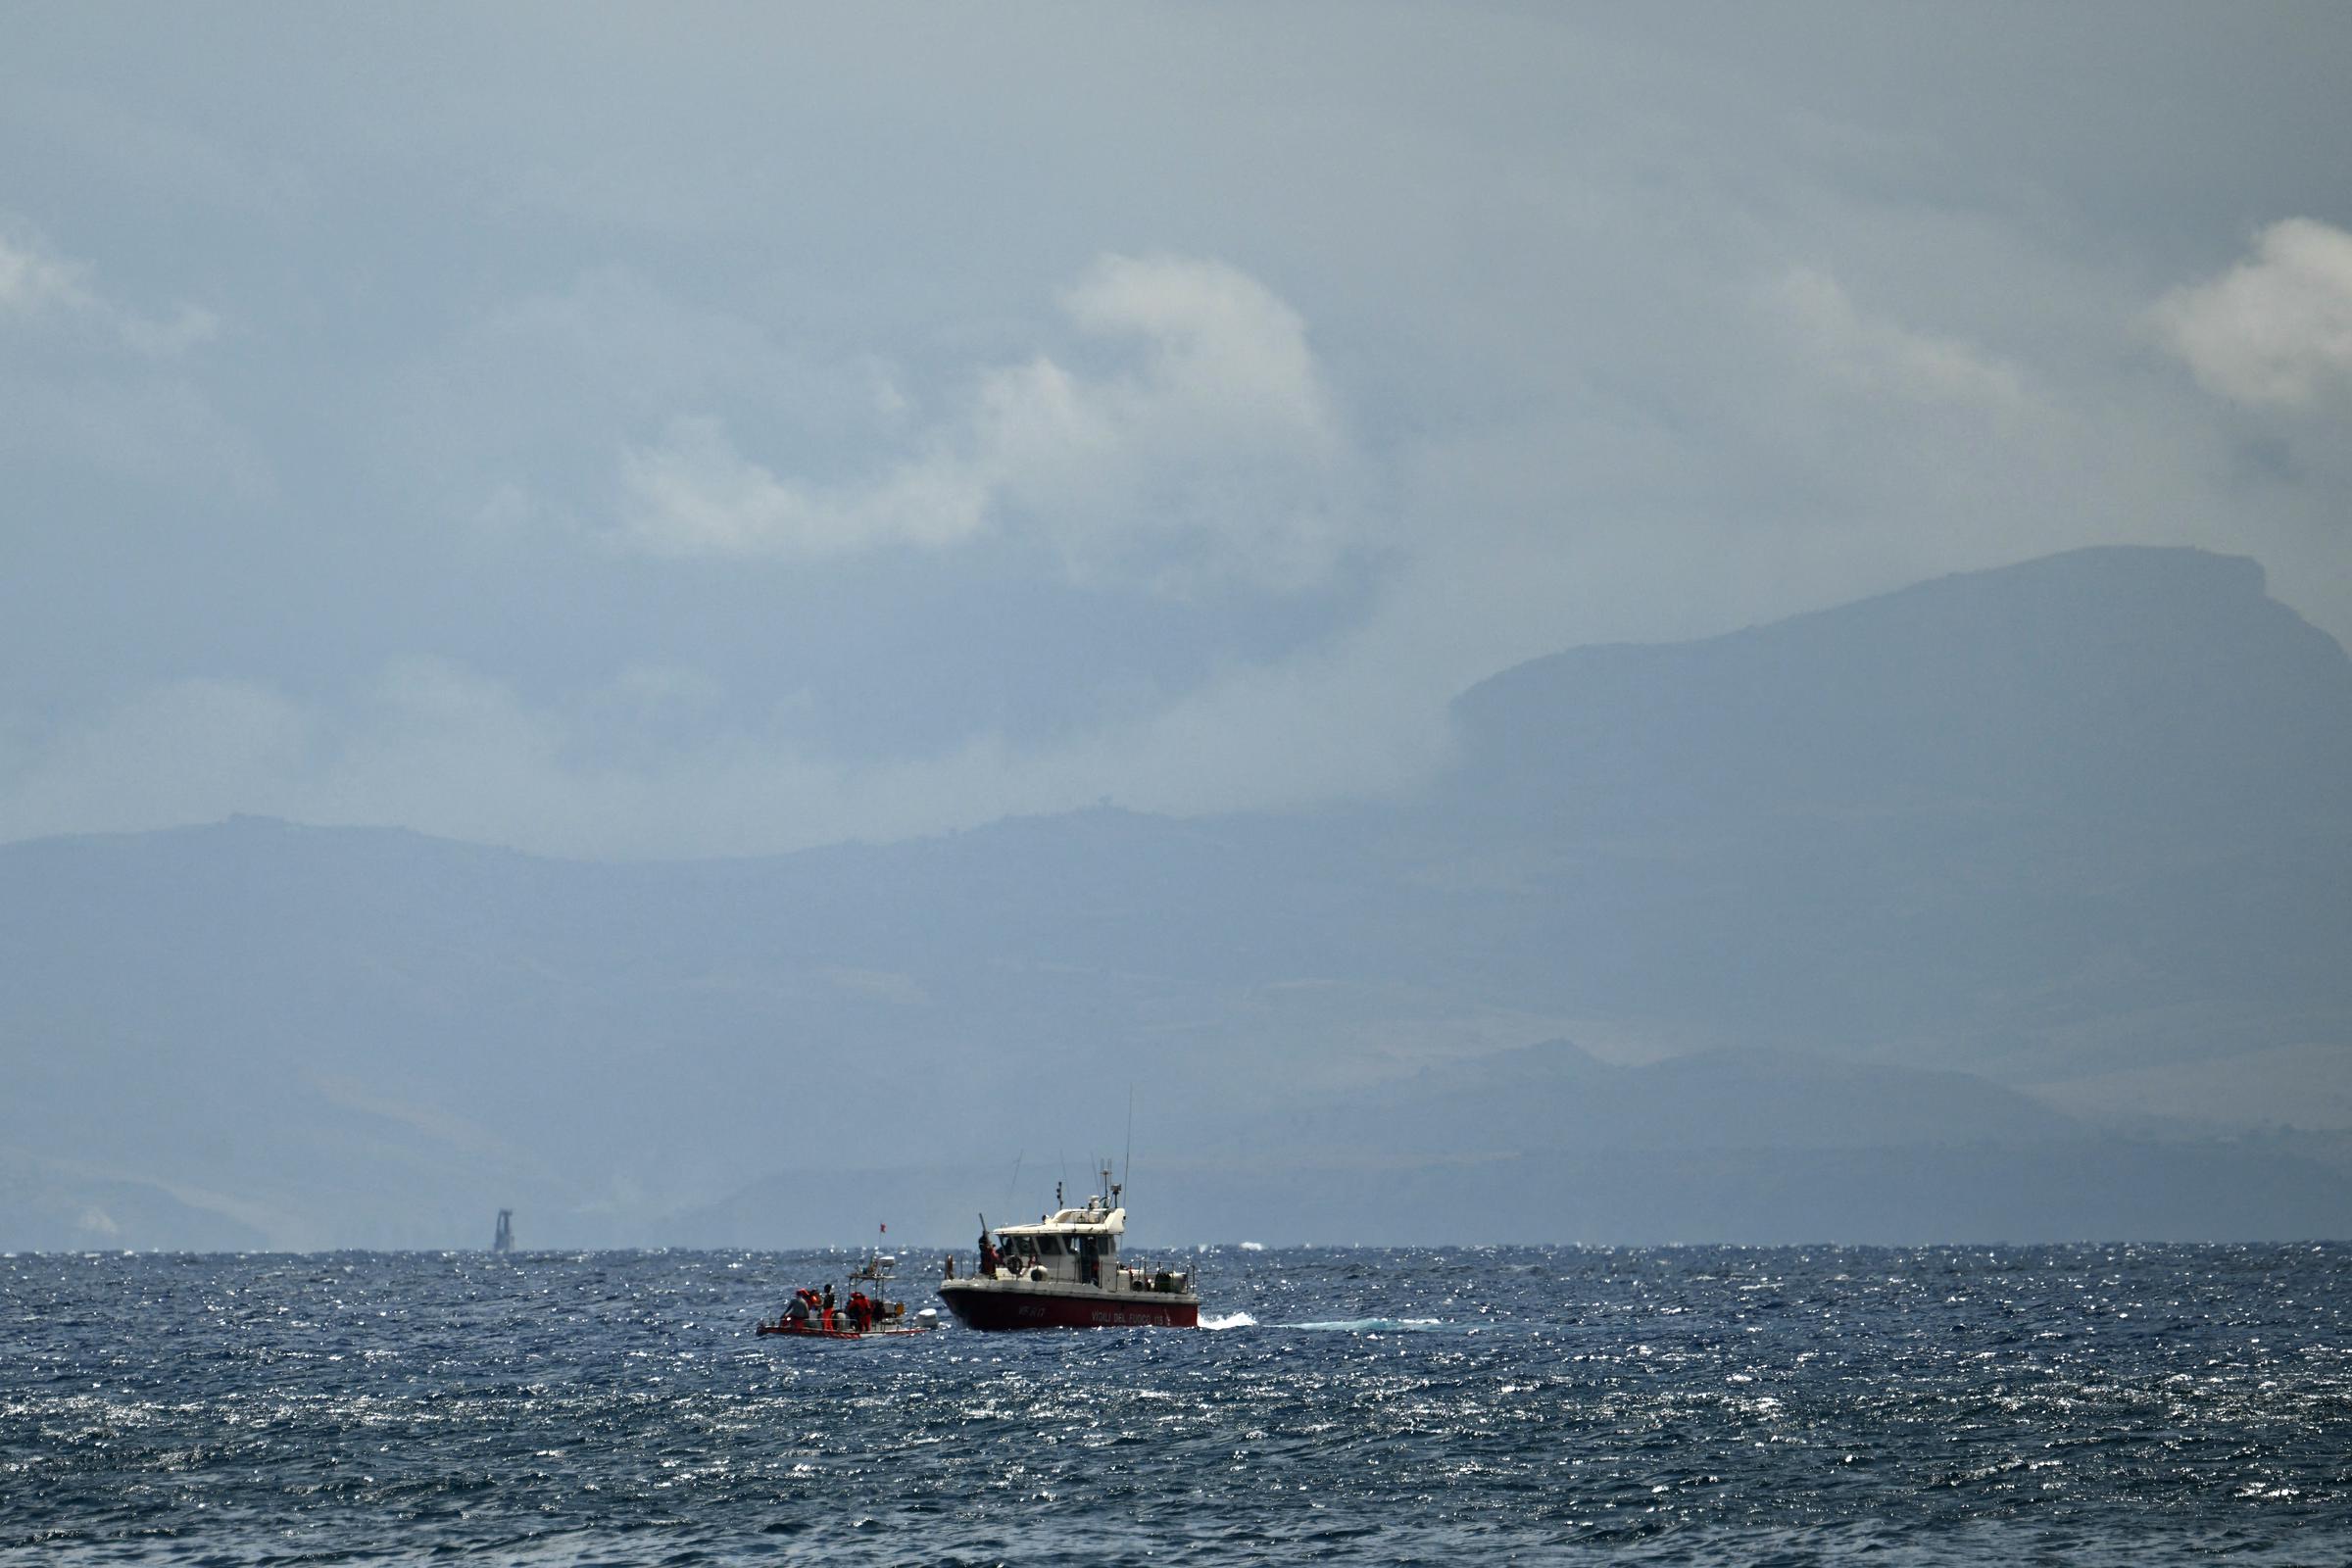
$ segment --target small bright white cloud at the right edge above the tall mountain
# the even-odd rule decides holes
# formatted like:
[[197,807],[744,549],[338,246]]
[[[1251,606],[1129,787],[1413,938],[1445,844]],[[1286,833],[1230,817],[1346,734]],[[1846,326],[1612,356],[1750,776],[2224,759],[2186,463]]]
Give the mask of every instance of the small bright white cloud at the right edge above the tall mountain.
[[2253,259],[2157,303],[2157,331],[2197,381],[2232,402],[2307,409],[2352,388],[2352,233],[2286,219]]

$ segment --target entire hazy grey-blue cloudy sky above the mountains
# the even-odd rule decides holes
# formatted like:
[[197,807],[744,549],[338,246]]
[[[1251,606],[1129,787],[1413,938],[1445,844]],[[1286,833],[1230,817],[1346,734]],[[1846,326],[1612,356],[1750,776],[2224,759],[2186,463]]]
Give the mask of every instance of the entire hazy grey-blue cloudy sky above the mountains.
[[2340,5],[0,5],[0,842],[1411,792],[2093,543],[2352,642]]

